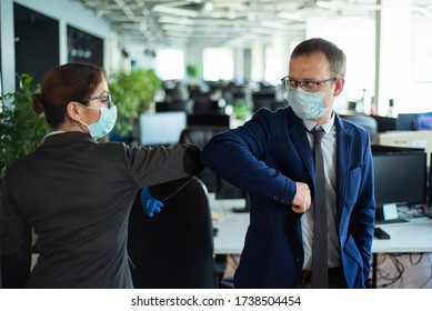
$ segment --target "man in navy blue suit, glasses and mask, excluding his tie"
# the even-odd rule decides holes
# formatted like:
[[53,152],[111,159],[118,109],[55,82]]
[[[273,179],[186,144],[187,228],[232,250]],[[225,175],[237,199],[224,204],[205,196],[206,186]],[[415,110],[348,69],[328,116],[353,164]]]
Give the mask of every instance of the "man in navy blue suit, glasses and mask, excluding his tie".
[[375,201],[368,132],[339,118],[345,56],[315,38],[292,52],[289,107],[259,110],[244,126],[214,136],[201,160],[251,195],[250,225],[237,288],[310,288],[315,193],[313,137],[325,131],[324,153],[330,288],[365,288]]

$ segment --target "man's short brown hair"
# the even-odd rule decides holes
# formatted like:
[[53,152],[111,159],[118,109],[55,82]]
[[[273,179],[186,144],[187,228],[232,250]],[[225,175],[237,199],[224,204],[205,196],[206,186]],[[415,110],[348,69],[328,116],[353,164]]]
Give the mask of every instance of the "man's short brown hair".
[[291,53],[291,58],[297,58],[300,56],[309,56],[312,53],[322,52],[329,63],[330,70],[334,77],[344,78],[346,71],[346,58],[341,49],[339,49],[334,43],[321,39],[313,38],[301,42],[294,48]]

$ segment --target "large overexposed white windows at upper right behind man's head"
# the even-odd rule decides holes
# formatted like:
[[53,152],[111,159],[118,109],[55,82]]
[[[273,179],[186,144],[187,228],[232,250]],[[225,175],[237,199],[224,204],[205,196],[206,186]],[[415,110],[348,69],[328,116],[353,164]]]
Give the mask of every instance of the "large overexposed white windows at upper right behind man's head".
[[[365,89],[366,113],[375,100],[378,113],[386,116],[390,99],[394,102],[394,116],[430,112],[432,18],[412,11],[411,0],[382,0],[381,3],[376,11],[379,23],[373,14],[365,19],[315,17],[308,19],[307,38],[322,37],[344,50],[348,71],[340,101],[359,100]],[[376,33],[380,47],[375,46]],[[340,108],[343,104],[339,102]]]

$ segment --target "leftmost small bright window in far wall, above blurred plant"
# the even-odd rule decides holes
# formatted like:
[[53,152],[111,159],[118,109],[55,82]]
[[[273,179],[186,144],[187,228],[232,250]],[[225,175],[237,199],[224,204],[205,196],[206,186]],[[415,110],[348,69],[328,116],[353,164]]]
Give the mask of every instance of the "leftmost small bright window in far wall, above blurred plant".
[[157,53],[155,71],[162,80],[184,78],[184,57],[182,50],[164,49]]

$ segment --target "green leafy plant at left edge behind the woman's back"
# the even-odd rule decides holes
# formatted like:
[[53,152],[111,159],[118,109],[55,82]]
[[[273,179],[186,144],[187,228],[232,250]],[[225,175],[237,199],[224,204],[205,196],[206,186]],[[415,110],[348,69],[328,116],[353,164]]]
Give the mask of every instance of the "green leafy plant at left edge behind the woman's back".
[[36,150],[49,132],[43,116],[32,109],[31,94],[40,89],[32,80],[23,73],[14,92],[0,93],[0,177],[9,164]]

